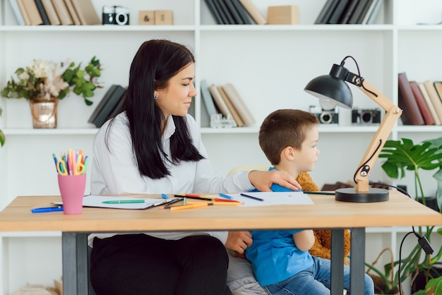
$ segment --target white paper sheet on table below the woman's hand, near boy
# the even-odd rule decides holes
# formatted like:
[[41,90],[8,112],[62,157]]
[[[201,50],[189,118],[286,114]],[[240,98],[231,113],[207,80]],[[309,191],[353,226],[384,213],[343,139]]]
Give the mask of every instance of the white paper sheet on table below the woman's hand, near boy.
[[270,206],[270,205],[313,205],[313,201],[303,192],[289,191],[289,192],[259,192],[251,193],[247,192],[246,195],[251,195],[261,200],[253,200],[251,198],[244,197],[239,193],[229,193],[234,200],[239,200],[244,203],[244,207],[253,206]]

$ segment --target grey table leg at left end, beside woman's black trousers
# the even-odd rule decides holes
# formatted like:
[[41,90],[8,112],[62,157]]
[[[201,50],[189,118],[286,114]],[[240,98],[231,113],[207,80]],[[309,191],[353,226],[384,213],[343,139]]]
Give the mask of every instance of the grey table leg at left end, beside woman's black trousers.
[[61,233],[63,294],[88,294],[88,234]]

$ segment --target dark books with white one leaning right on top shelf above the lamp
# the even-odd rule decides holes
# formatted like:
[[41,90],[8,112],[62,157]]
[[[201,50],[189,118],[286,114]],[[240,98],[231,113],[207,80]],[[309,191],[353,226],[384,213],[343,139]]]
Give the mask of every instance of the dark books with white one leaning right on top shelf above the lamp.
[[383,0],[327,0],[315,24],[374,23]]

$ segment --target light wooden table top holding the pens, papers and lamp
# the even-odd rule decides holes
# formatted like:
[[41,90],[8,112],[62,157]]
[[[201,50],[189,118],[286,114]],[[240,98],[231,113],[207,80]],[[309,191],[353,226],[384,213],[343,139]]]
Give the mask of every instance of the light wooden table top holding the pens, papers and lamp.
[[[141,196],[141,195],[138,195]],[[160,198],[160,195],[142,195]],[[0,231],[186,231],[240,229],[331,229],[442,225],[442,215],[398,191],[379,203],[346,203],[334,195],[309,195],[314,205],[209,206],[171,211],[84,207],[81,215],[31,213],[59,195],[19,196],[0,212]]]

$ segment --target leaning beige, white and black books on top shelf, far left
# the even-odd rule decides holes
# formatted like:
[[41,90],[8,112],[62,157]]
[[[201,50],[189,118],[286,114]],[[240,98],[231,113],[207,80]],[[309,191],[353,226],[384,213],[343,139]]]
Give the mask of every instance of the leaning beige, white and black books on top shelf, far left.
[[9,0],[18,25],[100,25],[91,0]]

